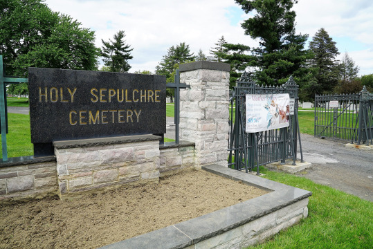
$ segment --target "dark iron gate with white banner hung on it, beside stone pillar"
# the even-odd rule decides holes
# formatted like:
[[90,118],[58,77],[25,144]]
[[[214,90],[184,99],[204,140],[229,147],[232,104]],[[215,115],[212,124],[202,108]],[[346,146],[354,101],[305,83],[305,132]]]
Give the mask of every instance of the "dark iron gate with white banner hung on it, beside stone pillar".
[[[272,129],[255,133],[246,133],[246,94],[275,94],[289,93],[295,100],[294,115],[289,116],[289,127]],[[230,136],[228,144],[228,167],[237,170],[246,169],[252,172],[254,167],[259,174],[259,166],[281,160],[285,163],[288,158],[293,159],[295,165],[297,141],[302,156],[300,131],[298,125],[298,85],[293,77],[282,86],[259,86],[250,79],[247,73],[237,80],[233,95],[230,98]]]

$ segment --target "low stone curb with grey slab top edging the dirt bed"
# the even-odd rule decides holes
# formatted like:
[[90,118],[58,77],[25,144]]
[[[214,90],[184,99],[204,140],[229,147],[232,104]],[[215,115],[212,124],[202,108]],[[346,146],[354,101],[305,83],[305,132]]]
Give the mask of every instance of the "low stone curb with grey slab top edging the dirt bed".
[[[228,248],[228,244],[241,248],[263,241],[308,214],[308,197],[312,193],[307,190],[276,183],[221,165],[207,165],[202,169],[271,192],[189,221],[104,246],[102,249],[186,247],[191,249],[215,246]],[[253,222],[255,223],[256,220],[259,220],[257,223],[260,223],[261,227],[255,228],[253,232]],[[266,225],[263,227],[262,223]],[[242,234],[243,230],[248,231],[247,234]]]

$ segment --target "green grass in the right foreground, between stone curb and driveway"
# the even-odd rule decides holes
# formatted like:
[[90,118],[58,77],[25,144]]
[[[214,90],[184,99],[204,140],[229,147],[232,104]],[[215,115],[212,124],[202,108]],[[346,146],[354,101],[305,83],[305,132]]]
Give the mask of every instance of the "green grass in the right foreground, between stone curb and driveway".
[[261,172],[312,192],[309,216],[255,248],[373,248],[373,203],[291,174]]

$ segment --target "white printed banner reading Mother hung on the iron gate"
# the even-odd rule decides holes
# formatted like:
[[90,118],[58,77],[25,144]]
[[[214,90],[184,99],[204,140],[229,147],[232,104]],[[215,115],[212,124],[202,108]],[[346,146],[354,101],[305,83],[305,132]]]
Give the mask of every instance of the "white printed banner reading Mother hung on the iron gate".
[[289,93],[246,95],[246,132],[289,127]]

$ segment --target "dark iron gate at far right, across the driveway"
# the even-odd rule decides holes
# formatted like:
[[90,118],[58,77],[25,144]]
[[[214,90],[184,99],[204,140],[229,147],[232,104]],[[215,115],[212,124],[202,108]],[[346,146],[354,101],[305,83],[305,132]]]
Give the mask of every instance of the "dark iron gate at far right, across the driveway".
[[373,143],[373,94],[365,86],[360,93],[315,96],[314,136]]

